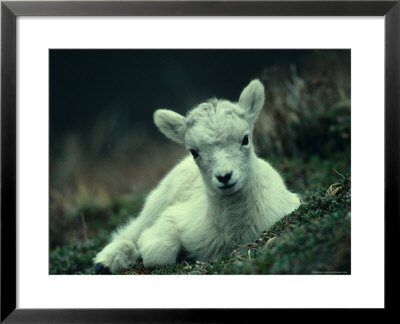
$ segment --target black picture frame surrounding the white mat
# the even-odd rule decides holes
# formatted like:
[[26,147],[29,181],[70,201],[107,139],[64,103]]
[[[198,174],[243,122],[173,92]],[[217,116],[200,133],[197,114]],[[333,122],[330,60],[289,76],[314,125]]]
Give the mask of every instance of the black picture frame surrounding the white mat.
[[[384,16],[385,309],[396,307],[398,259],[400,0],[395,1],[2,1],[1,2],[1,322],[227,322],[250,310],[16,308],[16,19],[19,16]],[[369,177],[371,175],[366,175]],[[262,312],[262,310],[252,310]],[[262,316],[262,314],[260,314]],[[257,316],[257,314],[252,314]],[[229,318],[231,320],[229,320]]]

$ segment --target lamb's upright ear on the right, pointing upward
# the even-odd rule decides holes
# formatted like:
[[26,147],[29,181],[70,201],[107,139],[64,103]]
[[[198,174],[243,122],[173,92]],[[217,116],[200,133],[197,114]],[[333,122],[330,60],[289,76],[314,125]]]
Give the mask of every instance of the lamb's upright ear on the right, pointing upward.
[[240,94],[239,106],[244,109],[245,118],[250,125],[256,122],[264,101],[264,86],[258,79],[251,81]]

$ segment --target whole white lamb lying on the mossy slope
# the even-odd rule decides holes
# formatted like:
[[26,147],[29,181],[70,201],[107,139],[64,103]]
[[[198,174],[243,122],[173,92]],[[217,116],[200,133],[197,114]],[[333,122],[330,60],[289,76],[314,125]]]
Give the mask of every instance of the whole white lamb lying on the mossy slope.
[[264,87],[253,80],[239,101],[211,99],[186,117],[160,109],[160,131],[192,156],[150,193],[140,215],[94,259],[95,273],[115,273],[142,257],[146,268],[176,263],[184,250],[200,261],[229,255],[300,205],[277,171],[258,158],[254,123]]

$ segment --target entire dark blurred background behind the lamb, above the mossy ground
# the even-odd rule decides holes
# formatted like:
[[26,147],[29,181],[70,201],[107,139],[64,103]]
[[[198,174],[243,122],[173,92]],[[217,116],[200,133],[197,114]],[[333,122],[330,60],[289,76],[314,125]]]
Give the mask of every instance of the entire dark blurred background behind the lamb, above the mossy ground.
[[350,172],[350,50],[50,50],[50,248],[107,235],[186,153],[156,129],[259,78],[259,155],[305,194]]

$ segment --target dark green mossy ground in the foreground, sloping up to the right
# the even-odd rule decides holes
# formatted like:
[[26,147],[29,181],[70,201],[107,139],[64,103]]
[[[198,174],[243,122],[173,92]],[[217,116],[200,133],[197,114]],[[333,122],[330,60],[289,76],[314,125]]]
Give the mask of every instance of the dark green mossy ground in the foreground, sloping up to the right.
[[[305,197],[298,210],[228,258],[152,271],[138,263],[121,274],[350,274],[350,177],[337,176],[337,183]],[[107,236],[54,249],[50,273],[93,274],[92,259]]]

